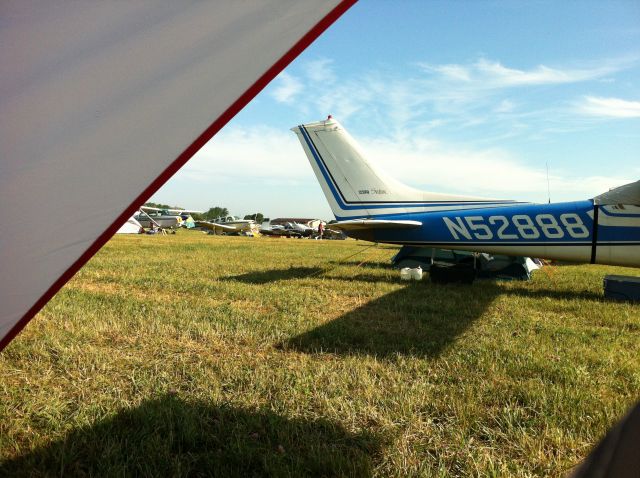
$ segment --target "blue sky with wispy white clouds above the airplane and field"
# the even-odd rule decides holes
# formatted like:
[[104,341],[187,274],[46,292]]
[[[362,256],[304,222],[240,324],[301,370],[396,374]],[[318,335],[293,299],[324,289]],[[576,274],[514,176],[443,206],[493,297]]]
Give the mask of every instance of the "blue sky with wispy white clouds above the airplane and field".
[[640,2],[361,1],[152,200],[332,219],[289,131],[328,114],[414,187],[593,197],[640,179]]

